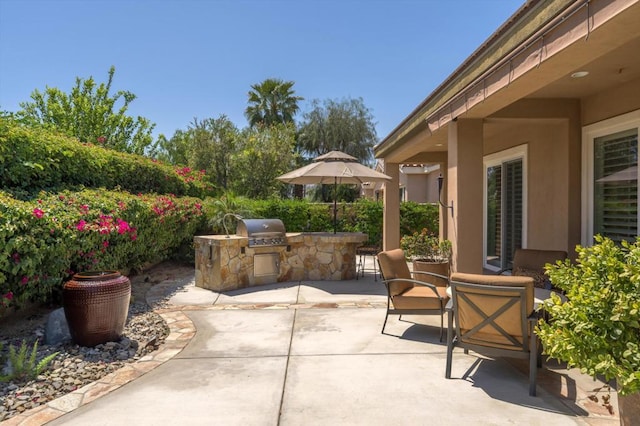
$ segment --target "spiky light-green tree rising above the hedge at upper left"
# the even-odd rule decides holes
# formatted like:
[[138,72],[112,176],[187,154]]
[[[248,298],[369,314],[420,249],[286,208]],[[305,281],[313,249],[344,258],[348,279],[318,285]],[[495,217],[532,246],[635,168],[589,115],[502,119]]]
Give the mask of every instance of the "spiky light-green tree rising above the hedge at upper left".
[[[104,145],[118,151],[144,154],[153,138],[155,124],[143,117],[126,115],[136,96],[125,90],[110,95],[115,67],[107,83],[97,85],[93,77],[76,78],[71,93],[47,87],[31,94],[31,102],[20,104],[17,115],[34,124],[51,126],[81,142]],[[119,107],[116,105],[118,104]]]

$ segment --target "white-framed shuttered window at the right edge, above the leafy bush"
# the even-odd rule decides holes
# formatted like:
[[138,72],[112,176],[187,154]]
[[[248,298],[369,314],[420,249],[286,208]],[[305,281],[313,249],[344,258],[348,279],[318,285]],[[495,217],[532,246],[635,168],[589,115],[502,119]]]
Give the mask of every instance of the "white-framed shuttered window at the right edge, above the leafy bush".
[[614,241],[638,235],[638,132],[640,111],[584,128],[583,236]]

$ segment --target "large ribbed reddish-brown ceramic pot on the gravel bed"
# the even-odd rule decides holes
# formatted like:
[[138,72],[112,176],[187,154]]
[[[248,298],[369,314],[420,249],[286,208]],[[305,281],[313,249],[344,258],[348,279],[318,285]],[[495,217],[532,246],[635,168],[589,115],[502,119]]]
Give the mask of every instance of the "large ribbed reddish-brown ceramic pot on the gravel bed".
[[131,282],[118,271],[75,274],[62,289],[62,305],[74,342],[96,346],[119,340],[131,298]]

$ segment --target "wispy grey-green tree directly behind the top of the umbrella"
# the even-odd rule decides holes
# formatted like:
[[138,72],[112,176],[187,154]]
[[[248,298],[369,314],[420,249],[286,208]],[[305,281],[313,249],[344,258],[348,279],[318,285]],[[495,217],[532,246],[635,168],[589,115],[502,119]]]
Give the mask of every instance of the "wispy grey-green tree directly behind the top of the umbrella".
[[353,155],[365,164],[372,163],[377,135],[371,110],[362,98],[327,99],[324,102],[316,99],[311,106],[300,124],[300,152],[316,157],[337,150]]

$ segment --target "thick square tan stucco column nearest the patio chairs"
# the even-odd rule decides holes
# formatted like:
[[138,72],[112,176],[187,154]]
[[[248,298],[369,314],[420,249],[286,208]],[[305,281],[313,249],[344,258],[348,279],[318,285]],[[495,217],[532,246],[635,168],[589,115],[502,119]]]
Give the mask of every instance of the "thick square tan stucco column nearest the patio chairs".
[[458,119],[449,123],[445,212],[447,238],[453,244],[453,270],[482,273],[483,122]]

